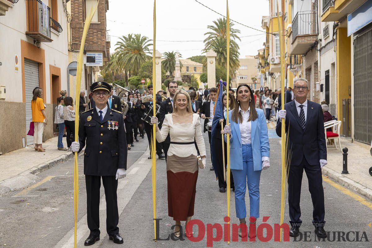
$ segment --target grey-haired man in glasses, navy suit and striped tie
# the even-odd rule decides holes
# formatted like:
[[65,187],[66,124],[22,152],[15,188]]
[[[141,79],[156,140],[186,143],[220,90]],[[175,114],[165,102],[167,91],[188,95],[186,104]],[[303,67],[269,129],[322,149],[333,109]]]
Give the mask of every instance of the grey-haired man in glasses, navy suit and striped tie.
[[[325,238],[324,231],[324,191],[321,168],[327,164],[327,147],[324,135],[323,111],[318,103],[307,100],[309,93],[308,81],[305,78],[294,80],[295,100],[284,105],[279,110],[276,134],[282,135],[282,118],[285,118],[285,131],[288,132],[289,158],[288,174],[288,204],[291,223],[290,236],[299,235],[302,220],[300,195],[302,174],[305,170],[309,181],[309,191],[313,205],[312,223],[315,234]],[[284,91],[285,92],[285,91]]]

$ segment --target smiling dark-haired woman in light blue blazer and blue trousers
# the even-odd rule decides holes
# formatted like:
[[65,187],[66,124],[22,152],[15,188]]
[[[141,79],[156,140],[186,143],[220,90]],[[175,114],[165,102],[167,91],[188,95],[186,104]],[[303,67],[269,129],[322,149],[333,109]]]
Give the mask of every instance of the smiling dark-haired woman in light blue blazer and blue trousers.
[[[260,217],[261,170],[270,167],[269,136],[262,109],[255,108],[253,91],[247,84],[236,90],[237,104],[229,113],[230,126],[221,133],[230,133],[230,168],[235,184],[235,210],[240,223],[246,224],[245,195],[248,186],[250,217]],[[255,223],[256,220],[253,222]],[[245,237],[247,234],[239,233]],[[255,232],[250,235],[255,235]]]

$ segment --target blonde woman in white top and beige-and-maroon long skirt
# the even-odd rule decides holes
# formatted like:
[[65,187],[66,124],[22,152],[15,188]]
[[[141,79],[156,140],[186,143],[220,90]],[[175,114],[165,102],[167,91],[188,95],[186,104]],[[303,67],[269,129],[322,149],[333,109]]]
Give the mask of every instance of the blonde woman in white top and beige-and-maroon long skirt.
[[[156,139],[163,142],[169,133],[170,146],[167,154],[168,215],[176,221],[174,236],[179,237],[181,221],[185,226],[194,215],[196,181],[198,180],[198,152],[202,157],[203,167],[206,163],[205,143],[202,135],[200,116],[194,114],[191,99],[185,90],[174,94],[173,113],[165,115],[159,130],[157,117],[151,118],[156,125]],[[192,230],[186,228],[186,236]]]

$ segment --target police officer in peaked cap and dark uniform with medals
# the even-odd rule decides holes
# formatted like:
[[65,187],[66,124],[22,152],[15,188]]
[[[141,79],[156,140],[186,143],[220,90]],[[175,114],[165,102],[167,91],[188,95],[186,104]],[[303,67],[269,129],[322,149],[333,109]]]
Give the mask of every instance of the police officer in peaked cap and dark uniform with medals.
[[110,85],[98,81],[90,86],[96,106],[81,115],[79,142],[73,142],[73,152],[84,146],[84,174],[87,190],[87,223],[90,235],[84,245],[99,240],[99,203],[101,177],[106,196],[106,231],[109,239],[122,244],[118,222],[118,179],[126,175],[126,147],[124,120],[121,112],[107,106]]

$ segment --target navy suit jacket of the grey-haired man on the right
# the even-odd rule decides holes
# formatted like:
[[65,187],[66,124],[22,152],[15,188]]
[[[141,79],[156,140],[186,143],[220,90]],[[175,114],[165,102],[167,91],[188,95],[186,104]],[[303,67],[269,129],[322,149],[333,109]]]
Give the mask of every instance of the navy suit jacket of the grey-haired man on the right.
[[[323,111],[318,103],[307,101],[305,129],[302,129],[295,101],[286,103],[285,132],[289,129],[288,151],[291,151],[291,166],[301,164],[305,156],[310,165],[319,165],[319,160],[327,160],[327,147],[324,135]],[[276,124],[276,134],[282,136],[280,119]]]

